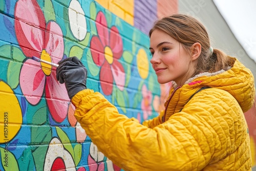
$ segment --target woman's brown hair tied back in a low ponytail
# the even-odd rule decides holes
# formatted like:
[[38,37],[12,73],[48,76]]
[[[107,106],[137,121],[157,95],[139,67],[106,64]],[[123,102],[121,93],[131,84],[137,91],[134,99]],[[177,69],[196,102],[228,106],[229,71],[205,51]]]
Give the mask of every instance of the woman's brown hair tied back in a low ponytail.
[[149,36],[154,30],[164,31],[174,39],[180,42],[182,47],[189,52],[189,48],[199,42],[202,50],[197,59],[197,66],[192,75],[195,76],[202,72],[217,72],[228,66],[227,55],[221,50],[214,49],[210,55],[210,40],[208,33],[202,23],[194,17],[184,14],[174,14],[166,16],[155,22],[149,32]]

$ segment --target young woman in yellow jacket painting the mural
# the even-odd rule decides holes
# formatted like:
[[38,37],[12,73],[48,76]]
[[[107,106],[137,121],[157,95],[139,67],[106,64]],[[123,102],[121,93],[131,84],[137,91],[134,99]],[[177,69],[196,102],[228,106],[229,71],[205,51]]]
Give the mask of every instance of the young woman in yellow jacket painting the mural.
[[187,15],[158,20],[150,51],[158,82],[174,86],[165,111],[143,124],[87,89],[87,70],[76,57],[59,63],[57,79],[92,142],[124,170],[251,170],[243,114],[254,102],[250,70],[212,49],[204,26]]

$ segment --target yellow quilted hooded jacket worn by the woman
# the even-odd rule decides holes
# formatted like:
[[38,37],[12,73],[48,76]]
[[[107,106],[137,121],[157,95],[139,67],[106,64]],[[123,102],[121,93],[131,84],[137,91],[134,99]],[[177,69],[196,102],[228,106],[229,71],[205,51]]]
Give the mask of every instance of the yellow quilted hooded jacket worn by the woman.
[[[254,79],[237,59],[230,62],[227,71],[202,73],[172,89],[166,110],[143,124],[89,89],[72,98],[75,117],[124,170],[251,170],[243,113],[254,102]],[[202,87],[210,88],[196,93]]]

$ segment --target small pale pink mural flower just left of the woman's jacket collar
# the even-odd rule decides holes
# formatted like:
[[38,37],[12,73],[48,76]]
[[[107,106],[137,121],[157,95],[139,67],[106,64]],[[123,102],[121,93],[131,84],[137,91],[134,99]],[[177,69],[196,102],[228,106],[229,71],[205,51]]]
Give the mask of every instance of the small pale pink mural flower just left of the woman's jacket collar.
[[145,84],[142,86],[142,100],[141,100],[141,110],[143,111],[143,119],[146,120],[148,116],[152,115],[152,93],[147,90]]

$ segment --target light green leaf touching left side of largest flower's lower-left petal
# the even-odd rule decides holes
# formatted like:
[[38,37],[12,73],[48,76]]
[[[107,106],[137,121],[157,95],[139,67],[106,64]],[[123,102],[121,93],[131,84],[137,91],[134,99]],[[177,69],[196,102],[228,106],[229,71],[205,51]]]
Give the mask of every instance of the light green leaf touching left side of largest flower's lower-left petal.
[[7,83],[12,89],[15,89],[19,83],[19,73],[22,63],[10,61],[7,70]]

